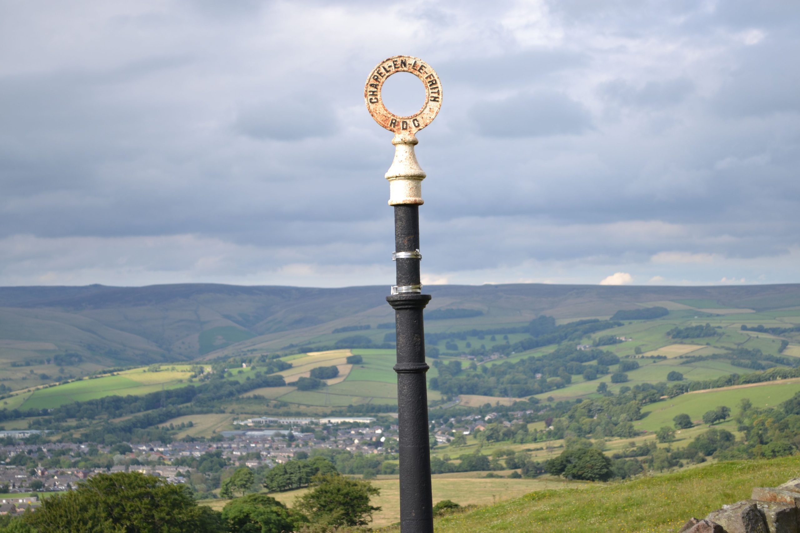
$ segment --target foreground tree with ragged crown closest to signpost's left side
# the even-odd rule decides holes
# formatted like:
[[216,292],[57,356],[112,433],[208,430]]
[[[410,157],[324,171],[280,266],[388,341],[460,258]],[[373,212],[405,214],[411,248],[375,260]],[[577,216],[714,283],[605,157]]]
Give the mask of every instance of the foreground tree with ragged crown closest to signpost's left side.
[[329,526],[365,526],[381,507],[370,505],[370,496],[380,489],[369,481],[342,475],[315,475],[313,489],[299,496],[294,508],[305,512],[312,522]]

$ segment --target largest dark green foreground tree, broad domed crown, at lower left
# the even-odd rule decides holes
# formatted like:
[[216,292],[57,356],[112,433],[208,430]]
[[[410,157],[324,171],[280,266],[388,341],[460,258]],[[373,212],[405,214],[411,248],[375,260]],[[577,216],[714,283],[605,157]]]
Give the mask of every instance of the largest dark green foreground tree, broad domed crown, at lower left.
[[38,533],[224,531],[220,514],[198,506],[189,487],[138,472],[95,475],[74,491],[43,500],[23,520]]

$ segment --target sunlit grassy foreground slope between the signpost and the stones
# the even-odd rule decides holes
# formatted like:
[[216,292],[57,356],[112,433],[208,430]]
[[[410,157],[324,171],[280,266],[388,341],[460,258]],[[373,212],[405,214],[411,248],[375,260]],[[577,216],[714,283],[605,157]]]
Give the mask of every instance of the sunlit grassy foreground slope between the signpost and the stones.
[[[439,533],[574,531],[674,533],[727,503],[750,498],[800,472],[800,457],[716,463],[630,482],[536,491],[489,507],[437,519]],[[394,530],[392,530],[394,531]]]

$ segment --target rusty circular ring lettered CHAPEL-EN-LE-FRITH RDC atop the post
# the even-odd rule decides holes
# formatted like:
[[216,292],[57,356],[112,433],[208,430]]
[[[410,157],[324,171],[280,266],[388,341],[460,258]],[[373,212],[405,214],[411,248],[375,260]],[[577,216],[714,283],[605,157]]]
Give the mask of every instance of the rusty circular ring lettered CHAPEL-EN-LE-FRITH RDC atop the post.
[[[408,117],[398,117],[383,105],[381,97],[383,82],[396,72],[410,72],[422,80],[425,86],[425,104],[417,113]],[[439,108],[442,107],[442,84],[439,82],[438,74],[421,59],[396,55],[378,63],[378,66],[370,72],[364,86],[364,101],[366,109],[378,124],[401,137],[414,137],[415,133],[434,120]]]

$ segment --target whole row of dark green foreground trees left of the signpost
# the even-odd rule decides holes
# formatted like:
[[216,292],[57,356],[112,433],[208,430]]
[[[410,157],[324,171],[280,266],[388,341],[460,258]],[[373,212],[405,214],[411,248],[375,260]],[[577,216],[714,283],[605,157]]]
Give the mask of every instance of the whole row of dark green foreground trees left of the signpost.
[[304,524],[365,526],[381,510],[370,503],[379,489],[365,481],[334,471],[315,475],[310,484],[292,509],[269,495],[249,494],[218,512],[198,505],[185,485],[139,473],[99,474],[0,524],[0,533],[282,533]]

